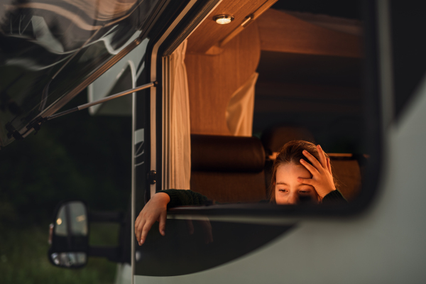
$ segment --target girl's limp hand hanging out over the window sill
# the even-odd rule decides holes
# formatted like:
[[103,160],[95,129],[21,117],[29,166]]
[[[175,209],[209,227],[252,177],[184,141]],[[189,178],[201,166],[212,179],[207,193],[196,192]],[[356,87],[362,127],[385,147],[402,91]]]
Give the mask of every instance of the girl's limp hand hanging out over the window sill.
[[151,197],[135,222],[135,234],[139,246],[141,246],[148,235],[148,231],[155,221],[160,222],[160,234],[165,235],[165,219],[167,219],[167,204],[170,202],[170,197],[167,193],[158,192]]

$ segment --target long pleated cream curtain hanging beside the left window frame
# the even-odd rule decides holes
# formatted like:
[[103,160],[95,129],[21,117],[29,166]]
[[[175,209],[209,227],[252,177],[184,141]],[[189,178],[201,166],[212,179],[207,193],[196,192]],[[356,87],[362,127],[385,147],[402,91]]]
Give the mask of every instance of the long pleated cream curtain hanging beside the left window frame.
[[190,98],[185,40],[170,55],[170,188],[189,190],[191,178]]

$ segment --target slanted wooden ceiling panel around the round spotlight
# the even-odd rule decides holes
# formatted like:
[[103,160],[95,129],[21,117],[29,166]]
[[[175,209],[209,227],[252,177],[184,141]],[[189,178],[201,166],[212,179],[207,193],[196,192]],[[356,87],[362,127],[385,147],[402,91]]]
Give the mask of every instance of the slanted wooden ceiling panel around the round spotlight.
[[[254,13],[266,0],[224,0],[201,23],[188,38],[187,53],[206,53],[209,48],[238,28],[244,18]],[[234,16],[234,21],[219,25],[213,20],[216,15]]]

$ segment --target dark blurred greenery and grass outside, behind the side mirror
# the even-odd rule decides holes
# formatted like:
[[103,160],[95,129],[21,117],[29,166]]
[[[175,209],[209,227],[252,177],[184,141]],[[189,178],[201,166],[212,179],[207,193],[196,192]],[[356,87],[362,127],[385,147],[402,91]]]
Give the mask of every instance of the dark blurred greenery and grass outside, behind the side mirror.
[[[75,107],[87,102],[80,94]],[[114,283],[116,263],[89,258],[82,269],[48,261],[48,224],[61,200],[97,211],[125,210],[131,192],[131,118],[87,111],[43,124],[0,151],[0,283]],[[114,225],[91,226],[91,244],[116,244]]]

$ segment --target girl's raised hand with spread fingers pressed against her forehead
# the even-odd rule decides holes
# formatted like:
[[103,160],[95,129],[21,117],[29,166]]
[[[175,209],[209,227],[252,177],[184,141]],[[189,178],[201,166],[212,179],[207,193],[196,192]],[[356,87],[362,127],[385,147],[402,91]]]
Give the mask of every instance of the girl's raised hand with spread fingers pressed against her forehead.
[[300,160],[300,163],[310,171],[312,178],[297,178],[297,181],[307,185],[312,185],[317,191],[317,194],[320,196],[320,201],[322,201],[322,198],[333,190],[336,190],[336,187],[333,182],[330,159],[325,158],[324,151],[322,151],[320,145],[317,145],[317,151],[320,155],[320,160],[317,160],[307,151],[303,151],[303,155],[310,160],[312,165],[303,159]]

